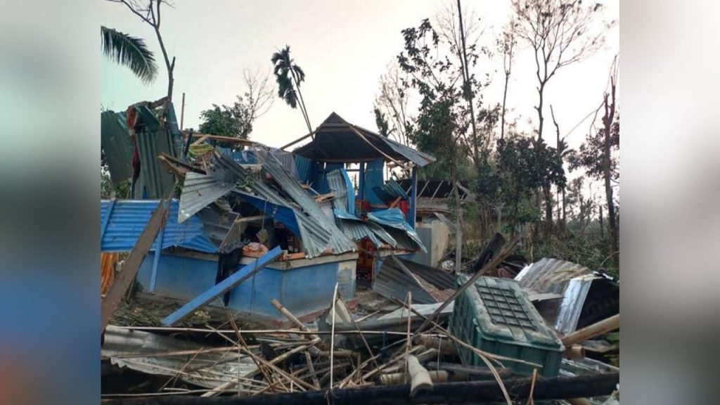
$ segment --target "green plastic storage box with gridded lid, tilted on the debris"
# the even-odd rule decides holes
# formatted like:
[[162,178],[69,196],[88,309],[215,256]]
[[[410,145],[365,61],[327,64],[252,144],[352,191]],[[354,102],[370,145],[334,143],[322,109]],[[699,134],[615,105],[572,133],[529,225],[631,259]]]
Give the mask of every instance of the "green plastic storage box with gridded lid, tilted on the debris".
[[[457,286],[467,280],[469,276],[459,275]],[[450,332],[484,352],[536,363],[539,375],[559,373],[562,342],[514,280],[480,277],[456,298]],[[472,350],[457,350],[463,364],[485,366]],[[532,374],[534,368],[509,360],[503,365],[518,374]]]

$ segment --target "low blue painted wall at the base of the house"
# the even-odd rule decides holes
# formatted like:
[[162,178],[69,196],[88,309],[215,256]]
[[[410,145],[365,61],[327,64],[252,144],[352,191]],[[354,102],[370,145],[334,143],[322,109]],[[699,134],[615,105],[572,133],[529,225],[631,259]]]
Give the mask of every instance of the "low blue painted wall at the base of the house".
[[[137,276],[143,291],[148,293],[153,257],[154,253],[145,257]],[[336,282],[340,283],[338,290],[343,298],[355,296],[355,273],[350,263],[354,265],[355,260],[313,264],[291,270],[265,268],[230,290],[228,305],[235,311],[276,321],[286,319],[271,305],[273,298],[297,317],[321,311],[328,308],[333,300]],[[161,254],[153,293],[189,301],[215,285],[216,273],[217,262]]]

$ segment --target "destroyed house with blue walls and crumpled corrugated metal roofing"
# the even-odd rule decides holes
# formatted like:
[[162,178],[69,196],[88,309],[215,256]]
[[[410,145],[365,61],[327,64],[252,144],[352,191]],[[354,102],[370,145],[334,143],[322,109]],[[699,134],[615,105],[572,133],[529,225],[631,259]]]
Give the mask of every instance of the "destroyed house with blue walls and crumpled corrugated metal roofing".
[[[112,182],[133,185],[132,199],[101,201],[102,252],[130,251],[160,199],[173,195],[136,276],[148,298],[205,297],[206,308],[224,303],[248,319],[278,323],[284,318],[271,306],[275,298],[310,319],[336,285],[351,301],[358,271],[372,280],[385,258],[426,251],[415,232],[415,183],[417,167],[435,159],[335,113],[292,153],[180,131],[163,100],[102,114]],[[387,162],[409,174],[409,192],[384,182]],[[260,262],[264,268],[251,271]],[[248,274],[218,290],[235,272]]]

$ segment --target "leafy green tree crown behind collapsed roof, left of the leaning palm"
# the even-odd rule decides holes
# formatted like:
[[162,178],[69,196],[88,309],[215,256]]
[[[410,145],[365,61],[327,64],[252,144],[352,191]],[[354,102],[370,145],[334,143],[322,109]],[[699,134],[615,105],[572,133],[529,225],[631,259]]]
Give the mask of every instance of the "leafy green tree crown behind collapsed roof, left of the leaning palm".
[[210,135],[247,139],[253,130],[253,112],[243,97],[233,106],[212,104],[212,109],[200,113],[199,131]]

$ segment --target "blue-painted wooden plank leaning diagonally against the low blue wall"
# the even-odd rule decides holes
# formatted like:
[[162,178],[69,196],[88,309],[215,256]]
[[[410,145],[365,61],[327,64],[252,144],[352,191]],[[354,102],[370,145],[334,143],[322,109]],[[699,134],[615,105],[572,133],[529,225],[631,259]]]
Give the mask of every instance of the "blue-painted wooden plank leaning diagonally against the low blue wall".
[[174,313],[166,316],[166,318],[163,319],[163,325],[171,326],[173,324],[176,324],[176,322],[179,322],[182,319],[186,318],[198,308],[207,305],[207,303],[210,303],[210,301],[215,300],[215,298],[228,292],[228,290],[234,288],[236,285],[239,285],[241,282],[247,280],[256,272],[262,270],[271,262],[274,262],[274,260],[280,257],[280,255],[282,255],[282,249],[280,249],[280,246],[275,246],[274,249],[272,249],[270,252],[267,252],[262,257],[258,258],[255,262],[251,264],[246,264],[240,270],[238,270],[238,272],[235,272],[233,275],[230,275],[230,277],[226,278],[225,280],[222,280],[216,285],[213,285],[212,288],[193,298],[192,301],[189,301]]

